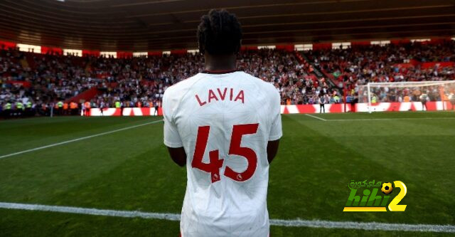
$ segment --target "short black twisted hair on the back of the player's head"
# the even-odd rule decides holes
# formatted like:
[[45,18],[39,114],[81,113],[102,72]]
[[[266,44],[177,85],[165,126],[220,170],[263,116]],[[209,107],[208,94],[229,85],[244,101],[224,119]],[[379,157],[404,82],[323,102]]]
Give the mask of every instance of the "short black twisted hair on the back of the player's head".
[[200,19],[197,36],[200,53],[228,55],[240,51],[242,26],[235,14],[212,9]]

